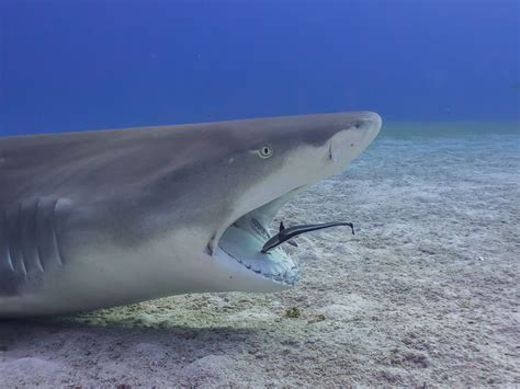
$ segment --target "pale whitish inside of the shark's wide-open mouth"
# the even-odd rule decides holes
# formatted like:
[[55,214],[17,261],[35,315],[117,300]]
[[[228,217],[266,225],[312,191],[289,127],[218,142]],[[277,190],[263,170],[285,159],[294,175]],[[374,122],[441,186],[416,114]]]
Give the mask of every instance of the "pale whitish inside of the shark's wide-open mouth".
[[281,248],[261,253],[267,240],[272,236],[269,226],[278,210],[299,188],[291,191],[271,202],[240,216],[226,228],[215,248],[213,256],[231,258],[258,277],[274,284],[293,286],[299,277],[299,266]]

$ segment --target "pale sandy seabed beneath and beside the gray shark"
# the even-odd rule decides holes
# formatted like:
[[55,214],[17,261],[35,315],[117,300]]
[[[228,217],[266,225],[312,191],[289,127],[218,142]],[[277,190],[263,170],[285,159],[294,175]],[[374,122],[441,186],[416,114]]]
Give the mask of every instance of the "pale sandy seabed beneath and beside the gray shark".
[[287,245],[297,287],[0,322],[0,387],[520,385],[520,128],[457,126],[383,128],[283,208],[357,226]]

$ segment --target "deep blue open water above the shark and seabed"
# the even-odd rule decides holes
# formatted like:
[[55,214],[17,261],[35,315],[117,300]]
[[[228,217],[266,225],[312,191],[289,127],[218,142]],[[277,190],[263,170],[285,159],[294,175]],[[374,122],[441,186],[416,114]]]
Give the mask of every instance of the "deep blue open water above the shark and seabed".
[[0,135],[520,118],[518,0],[0,0]]

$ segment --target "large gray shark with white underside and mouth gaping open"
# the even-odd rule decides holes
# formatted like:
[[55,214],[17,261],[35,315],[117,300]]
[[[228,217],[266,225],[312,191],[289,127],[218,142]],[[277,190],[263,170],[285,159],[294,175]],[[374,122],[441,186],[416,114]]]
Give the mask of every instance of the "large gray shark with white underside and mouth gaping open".
[[371,112],[0,137],[0,317],[298,278],[280,207],[375,138]]

